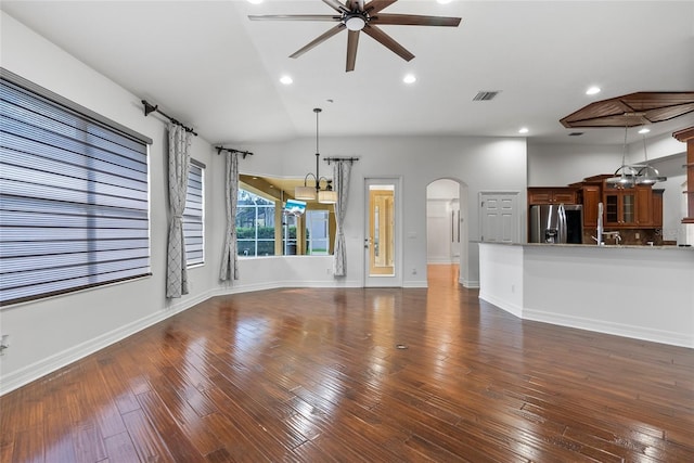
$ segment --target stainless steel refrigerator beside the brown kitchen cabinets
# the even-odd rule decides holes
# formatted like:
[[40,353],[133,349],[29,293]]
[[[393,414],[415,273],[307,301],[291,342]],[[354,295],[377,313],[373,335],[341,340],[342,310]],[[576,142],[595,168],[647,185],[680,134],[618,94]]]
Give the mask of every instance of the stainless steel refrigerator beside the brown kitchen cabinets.
[[530,243],[583,242],[583,206],[541,204],[530,206]]

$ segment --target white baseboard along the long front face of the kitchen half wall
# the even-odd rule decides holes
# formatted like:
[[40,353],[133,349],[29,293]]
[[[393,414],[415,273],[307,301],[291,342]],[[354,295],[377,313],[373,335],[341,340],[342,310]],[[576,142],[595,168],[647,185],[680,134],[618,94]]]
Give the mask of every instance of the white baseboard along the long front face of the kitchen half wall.
[[594,331],[597,333],[612,334],[616,336],[631,337],[634,339],[648,340],[653,343],[694,348],[693,336],[663,330],[653,330],[645,326],[550,313],[542,310],[532,309],[523,310],[523,319],[556,324],[561,326],[575,327],[579,330]]

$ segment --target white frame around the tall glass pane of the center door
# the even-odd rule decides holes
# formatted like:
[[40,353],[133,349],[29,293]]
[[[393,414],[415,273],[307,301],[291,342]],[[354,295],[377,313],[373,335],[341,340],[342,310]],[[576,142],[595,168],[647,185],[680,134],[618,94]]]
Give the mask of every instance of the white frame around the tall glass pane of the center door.
[[[369,224],[370,224],[370,198],[369,187],[373,184],[393,184],[395,188],[394,191],[394,213],[395,213],[395,257],[394,257],[394,276],[370,276],[369,271],[369,252],[365,247],[367,236],[369,236]],[[363,271],[363,287],[402,287],[403,282],[403,203],[402,200],[402,176],[369,176],[364,177],[363,183],[363,195],[364,195],[364,213],[363,213],[363,223],[362,223],[362,240],[361,243],[364,245],[363,253],[361,254],[361,268]]]

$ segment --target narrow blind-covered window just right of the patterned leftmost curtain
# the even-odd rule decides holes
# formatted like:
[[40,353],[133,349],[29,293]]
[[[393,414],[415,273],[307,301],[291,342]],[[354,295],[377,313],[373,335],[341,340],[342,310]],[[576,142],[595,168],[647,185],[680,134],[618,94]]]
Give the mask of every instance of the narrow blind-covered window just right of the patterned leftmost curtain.
[[200,266],[205,262],[205,230],[203,227],[203,182],[205,165],[191,159],[188,169],[185,210],[183,210],[183,240],[185,241],[185,265]]

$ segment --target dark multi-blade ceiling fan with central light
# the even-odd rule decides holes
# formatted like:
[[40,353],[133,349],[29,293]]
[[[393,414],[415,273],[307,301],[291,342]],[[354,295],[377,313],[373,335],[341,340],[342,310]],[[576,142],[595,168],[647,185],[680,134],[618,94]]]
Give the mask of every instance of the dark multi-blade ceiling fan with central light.
[[305,47],[292,53],[290,57],[299,57],[307,51],[333,37],[335,34],[347,29],[347,72],[355,70],[357,44],[359,42],[360,31],[371,36],[404,61],[410,61],[414,55],[400,43],[395,41],[390,36],[381,30],[377,26],[384,24],[396,24],[404,26],[457,27],[460,24],[460,17],[422,16],[416,14],[378,14],[382,10],[390,7],[397,0],[371,0],[365,3],[364,0],[346,0],[345,4],[343,4],[338,0],[323,0],[323,3],[335,10],[337,14],[264,14],[248,15],[248,18],[253,21],[326,21],[338,23],[337,26],[329,29]]

